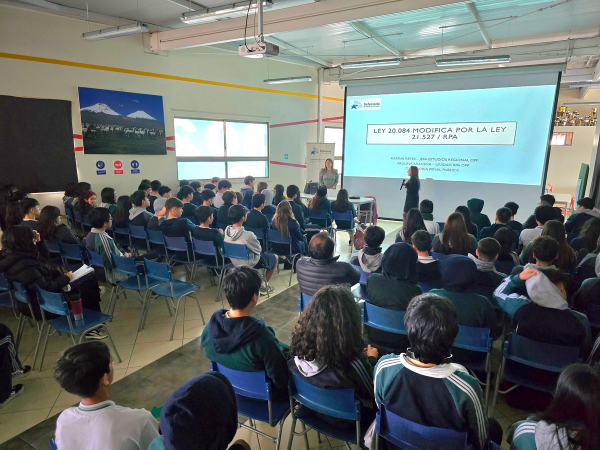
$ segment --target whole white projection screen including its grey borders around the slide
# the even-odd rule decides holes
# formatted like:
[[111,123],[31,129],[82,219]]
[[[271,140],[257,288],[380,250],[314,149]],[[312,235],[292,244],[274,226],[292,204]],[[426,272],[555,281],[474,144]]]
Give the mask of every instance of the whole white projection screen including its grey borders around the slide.
[[443,222],[473,197],[525,221],[543,193],[564,65],[375,78],[346,85],[342,186],[401,219],[411,165]]

